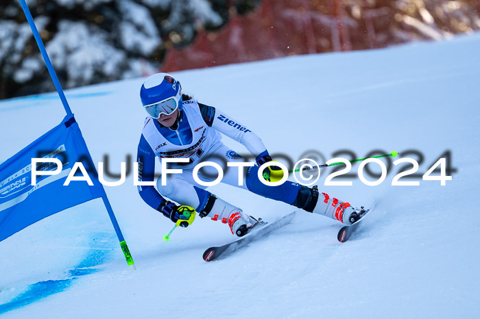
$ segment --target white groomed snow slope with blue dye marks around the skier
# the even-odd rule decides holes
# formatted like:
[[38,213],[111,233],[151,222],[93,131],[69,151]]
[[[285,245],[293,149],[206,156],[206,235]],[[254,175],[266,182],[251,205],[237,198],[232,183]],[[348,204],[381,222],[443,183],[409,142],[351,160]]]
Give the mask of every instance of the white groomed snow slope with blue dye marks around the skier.
[[[331,159],[341,149],[359,158],[416,149],[423,174],[450,150],[457,173],[446,186],[421,177],[420,186],[391,186],[397,168],[380,186],[358,178],[324,186],[331,170],[322,170],[321,192],[353,205],[380,200],[356,238],[339,244],[337,222],[298,212],[291,224],[211,263],[202,253],[232,238],[228,228],[197,218],[163,242],[173,224],[141,201],[130,174],[106,192],[137,269],[128,269],[101,201],[73,207],[0,242],[0,315],[478,318],[479,51],[473,34],[175,73],[185,92],[246,123],[270,153],[296,160],[313,150]],[[108,154],[114,172],[136,155],[143,80],[67,91],[94,161]],[[0,162],[63,116],[53,93],[1,101]],[[230,186],[211,190],[265,220],[293,210]]]

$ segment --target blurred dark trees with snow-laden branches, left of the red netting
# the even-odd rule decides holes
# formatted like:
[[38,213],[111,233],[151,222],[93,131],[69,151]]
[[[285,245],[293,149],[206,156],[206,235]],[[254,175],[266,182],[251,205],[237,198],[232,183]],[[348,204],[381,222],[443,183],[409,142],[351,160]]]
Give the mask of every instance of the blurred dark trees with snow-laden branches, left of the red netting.
[[[199,28],[215,30],[224,25],[230,2],[27,1],[64,88],[156,72],[167,49],[187,46]],[[260,0],[233,2],[246,13]],[[54,90],[19,1],[3,3],[0,99]]]

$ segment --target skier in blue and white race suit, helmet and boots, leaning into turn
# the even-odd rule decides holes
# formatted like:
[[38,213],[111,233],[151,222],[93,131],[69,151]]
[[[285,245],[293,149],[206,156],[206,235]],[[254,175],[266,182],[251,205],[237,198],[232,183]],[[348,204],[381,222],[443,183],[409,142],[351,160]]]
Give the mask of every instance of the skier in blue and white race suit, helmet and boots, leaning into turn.
[[[143,201],[170,218],[176,225],[191,225],[195,214],[182,214],[184,209],[190,207],[193,207],[201,218],[208,216],[228,224],[232,233],[238,236],[245,235],[256,222],[243,213],[242,209],[208,192],[205,186],[193,179],[193,168],[200,162],[215,162],[220,166],[225,162],[243,162],[240,155],[221,142],[219,133],[243,144],[255,157],[258,165],[248,167],[241,185],[237,168],[226,170],[221,182],[250,190],[269,199],[283,201],[307,212],[328,216],[347,225],[357,220],[359,212],[355,207],[325,193],[320,194],[319,199],[316,186],[308,188],[291,181],[285,181],[280,186],[266,186],[261,183],[257,176],[259,166],[272,161],[261,139],[224,112],[182,94],[180,82],[171,75],[157,73],[149,77],[141,86],[140,98],[149,116],[145,118],[139,142],[139,181],[154,181],[155,157],[160,161],[171,157],[189,159],[187,163],[173,164],[170,167],[182,168],[182,174],[168,175],[166,186],[162,186],[161,178],[156,181],[157,188],[139,186]],[[267,173],[267,176],[272,173],[270,169],[274,169],[274,166],[265,168],[264,173]],[[204,166],[202,170],[203,175],[202,171],[198,175],[203,181],[211,180],[208,176],[217,175],[212,166]],[[281,175],[283,176],[283,172]]]

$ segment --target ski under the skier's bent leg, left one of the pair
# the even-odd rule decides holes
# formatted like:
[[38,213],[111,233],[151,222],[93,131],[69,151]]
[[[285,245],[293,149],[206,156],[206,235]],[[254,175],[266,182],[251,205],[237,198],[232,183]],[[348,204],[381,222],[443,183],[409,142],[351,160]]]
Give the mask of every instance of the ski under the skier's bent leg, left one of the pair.
[[259,219],[258,224],[255,227],[252,227],[252,229],[250,229],[250,231],[248,231],[248,233],[243,237],[222,246],[208,248],[203,255],[204,261],[218,259],[220,256],[226,256],[239,248],[247,246],[253,240],[261,238],[262,236],[267,235],[267,233],[287,225],[289,222],[291,222],[294,215],[295,212],[291,212],[290,214],[283,216],[276,222],[272,223],[264,222],[263,220]]

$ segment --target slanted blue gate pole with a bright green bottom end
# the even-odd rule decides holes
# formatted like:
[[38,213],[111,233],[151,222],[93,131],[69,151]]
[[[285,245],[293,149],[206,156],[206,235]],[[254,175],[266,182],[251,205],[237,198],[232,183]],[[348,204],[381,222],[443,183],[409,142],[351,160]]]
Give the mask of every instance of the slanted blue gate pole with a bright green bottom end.
[[[45,61],[45,64],[47,64],[47,69],[50,73],[50,77],[53,81],[53,84],[55,85],[55,88],[57,89],[58,95],[60,96],[60,100],[62,100],[63,107],[65,109],[65,112],[67,112],[67,115],[71,115],[72,111],[70,109],[69,103],[67,102],[67,98],[65,97],[65,94],[63,92],[62,86],[60,85],[60,81],[58,81],[58,77],[55,73],[55,70],[53,69],[53,65],[51,64],[50,58],[47,54],[47,50],[45,49],[45,45],[43,44],[42,38],[40,38],[40,34],[38,33],[38,29],[36,28],[34,18],[32,17],[32,14],[30,13],[30,10],[28,9],[27,3],[25,3],[25,0],[19,0],[20,4],[22,6],[23,12],[25,13],[25,17],[27,18],[28,24],[30,25],[30,29],[32,29],[32,33],[34,34],[34,38],[36,40],[36,43],[38,45],[38,49],[40,49],[40,53],[42,53],[43,60]],[[87,148],[88,149],[88,148]],[[91,159],[90,153],[88,153],[89,159]],[[93,163],[93,161],[92,161]],[[97,180],[99,183],[99,181]],[[112,206],[110,205],[110,201],[108,201],[107,194],[105,192],[104,186],[101,186],[101,189],[104,192],[104,195],[101,196],[101,199],[104,201],[104,205],[107,209],[108,216],[110,216],[110,220],[112,222],[113,228],[115,229],[115,233],[117,233],[117,237],[119,238],[120,241],[120,246],[121,250],[123,251],[123,255],[125,255],[125,259],[127,260],[128,266],[130,268],[135,269],[134,261],[132,259],[132,255],[130,255],[130,251],[128,250],[127,243],[125,242],[125,239],[123,238],[123,234],[121,233],[119,224],[117,222],[117,218],[115,218],[115,214],[113,214],[113,209]]]

